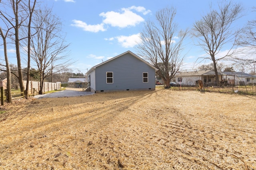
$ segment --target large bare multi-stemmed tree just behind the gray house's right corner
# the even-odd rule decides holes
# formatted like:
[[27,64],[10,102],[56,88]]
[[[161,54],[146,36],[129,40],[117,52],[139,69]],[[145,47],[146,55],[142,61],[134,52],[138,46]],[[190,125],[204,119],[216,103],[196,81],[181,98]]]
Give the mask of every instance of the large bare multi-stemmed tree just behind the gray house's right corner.
[[173,7],[156,12],[156,23],[146,21],[140,33],[142,41],[136,47],[140,56],[158,68],[156,74],[162,78],[166,88],[170,87],[170,80],[182,66],[184,56],[180,53],[188,32],[178,30],[178,24],[174,22],[175,14]]

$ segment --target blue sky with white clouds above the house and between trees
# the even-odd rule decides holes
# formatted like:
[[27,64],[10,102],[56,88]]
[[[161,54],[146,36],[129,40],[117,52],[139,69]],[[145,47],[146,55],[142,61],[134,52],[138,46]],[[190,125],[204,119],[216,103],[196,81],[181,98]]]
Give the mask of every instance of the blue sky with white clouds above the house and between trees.
[[[179,28],[190,29],[196,20],[209,11],[211,2],[217,5],[215,0],[44,0],[62,20],[66,42],[70,43],[69,57],[75,61],[70,68],[73,72],[82,73],[128,50],[136,54],[135,42],[139,40],[144,21],[154,21],[156,11],[174,6]],[[255,12],[251,12],[252,6],[256,6],[254,0],[233,2],[241,3],[245,13],[236,22],[236,27],[255,19]],[[193,63],[205,52],[195,46],[191,38],[185,44],[183,69],[192,70]],[[0,58],[4,59],[2,49],[0,46]],[[16,64],[15,53],[9,52],[8,56],[10,62]]]

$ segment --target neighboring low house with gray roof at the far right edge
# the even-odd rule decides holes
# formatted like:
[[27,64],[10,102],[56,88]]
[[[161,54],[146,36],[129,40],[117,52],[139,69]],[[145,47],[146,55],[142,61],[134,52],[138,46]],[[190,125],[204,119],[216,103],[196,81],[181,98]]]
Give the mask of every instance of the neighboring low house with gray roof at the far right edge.
[[235,85],[248,85],[256,83],[256,76],[244,72],[222,72],[223,80]]

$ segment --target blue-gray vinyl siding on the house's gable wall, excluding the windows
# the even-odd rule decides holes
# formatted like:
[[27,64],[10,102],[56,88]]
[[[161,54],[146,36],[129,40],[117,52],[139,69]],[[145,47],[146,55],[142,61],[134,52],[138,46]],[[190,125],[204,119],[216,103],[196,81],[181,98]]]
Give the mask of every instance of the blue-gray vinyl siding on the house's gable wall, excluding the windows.
[[[113,72],[113,83],[106,83],[106,72]],[[148,72],[148,82],[143,83],[143,72]],[[155,69],[129,53],[95,69],[96,90],[155,89]]]

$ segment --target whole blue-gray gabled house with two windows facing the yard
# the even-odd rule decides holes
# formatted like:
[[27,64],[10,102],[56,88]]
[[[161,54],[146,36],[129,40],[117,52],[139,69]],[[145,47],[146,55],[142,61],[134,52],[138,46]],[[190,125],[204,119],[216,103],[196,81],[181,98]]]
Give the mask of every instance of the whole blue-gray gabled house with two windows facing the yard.
[[155,90],[157,68],[131,51],[92,67],[86,75],[91,92]]

